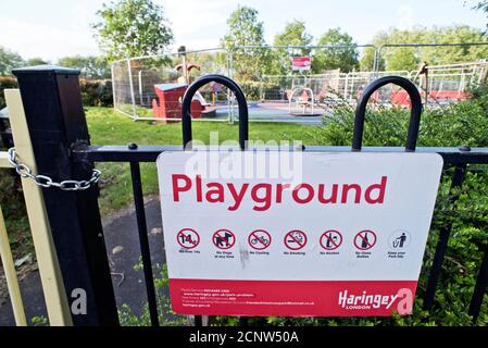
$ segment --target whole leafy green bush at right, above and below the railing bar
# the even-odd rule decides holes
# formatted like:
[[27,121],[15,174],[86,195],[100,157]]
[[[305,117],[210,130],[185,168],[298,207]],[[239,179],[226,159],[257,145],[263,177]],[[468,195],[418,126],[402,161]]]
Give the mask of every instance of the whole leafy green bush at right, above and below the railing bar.
[[[488,88],[477,89],[473,99],[426,110],[422,115],[418,146],[488,147]],[[371,105],[366,113],[363,146],[404,146],[410,111],[400,107]],[[324,127],[313,130],[314,144],[350,146],[354,109],[343,102],[324,116]],[[420,172],[418,175],[422,175]],[[391,318],[252,318],[251,325],[487,325],[488,298],[474,323],[467,314],[476,277],[488,241],[488,167],[470,165],[463,186],[451,190],[453,167],[446,166],[437,197],[423,269],[412,315]],[[453,202],[451,198],[458,200]],[[438,236],[452,225],[435,306],[423,309],[426,285]],[[216,316],[216,325],[237,325],[236,318]]]

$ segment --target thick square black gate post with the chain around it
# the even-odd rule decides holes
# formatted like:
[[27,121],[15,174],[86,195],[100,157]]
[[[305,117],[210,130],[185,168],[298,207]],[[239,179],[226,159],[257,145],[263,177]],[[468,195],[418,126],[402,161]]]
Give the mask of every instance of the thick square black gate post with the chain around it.
[[[92,163],[72,158],[75,146],[89,145],[79,71],[39,65],[13,73],[34,147],[36,174],[48,175],[55,182],[89,179]],[[72,304],[79,304],[76,312],[72,308],[74,325],[118,325],[97,185],[72,191],[49,187],[42,194],[66,295]],[[82,291],[73,293],[74,289]],[[72,297],[83,290],[86,312],[79,303],[83,296]]]

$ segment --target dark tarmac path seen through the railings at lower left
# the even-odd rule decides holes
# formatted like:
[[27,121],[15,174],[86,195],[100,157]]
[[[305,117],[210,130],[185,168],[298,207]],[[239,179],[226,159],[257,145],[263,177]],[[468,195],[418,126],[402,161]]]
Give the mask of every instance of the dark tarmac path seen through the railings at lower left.
[[[157,263],[162,265],[165,259],[161,210],[158,199],[151,199],[146,203],[146,220],[153,266]],[[142,270],[134,270],[134,265],[139,262],[140,256],[134,209],[127,209],[117,214],[116,217],[105,222],[104,232],[117,306],[126,303],[135,313],[139,314],[142,306],[147,302],[147,297]],[[47,316],[39,273],[37,271],[21,281],[21,290],[28,322],[30,323],[33,316]],[[14,324],[10,300],[0,301],[0,326]]]

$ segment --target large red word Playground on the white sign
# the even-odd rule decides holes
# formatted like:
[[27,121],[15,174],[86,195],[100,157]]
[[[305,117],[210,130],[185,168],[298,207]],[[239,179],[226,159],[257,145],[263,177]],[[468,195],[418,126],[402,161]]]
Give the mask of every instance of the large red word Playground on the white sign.
[[[255,211],[266,211],[273,203],[281,203],[284,199],[292,199],[299,204],[306,204],[315,200],[322,204],[336,203],[366,203],[383,204],[387,177],[381,176],[379,183],[362,186],[360,184],[325,184],[313,186],[302,183],[290,189],[289,184],[241,184],[238,187],[233,183],[202,183],[200,175],[191,178],[185,174],[173,174],[173,200],[179,202],[183,195],[192,195],[197,202],[209,203],[228,202],[228,210],[239,209],[242,200],[249,196],[254,202]],[[192,191],[192,192],[191,192]],[[195,196],[193,196],[195,195]]]

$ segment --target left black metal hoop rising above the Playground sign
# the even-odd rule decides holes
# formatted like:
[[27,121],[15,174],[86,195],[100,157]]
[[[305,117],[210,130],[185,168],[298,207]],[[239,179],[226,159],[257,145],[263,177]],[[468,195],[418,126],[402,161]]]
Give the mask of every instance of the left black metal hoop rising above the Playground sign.
[[223,75],[205,75],[193,82],[185,92],[182,102],[182,127],[183,127],[183,146],[187,148],[192,139],[191,134],[191,100],[193,99],[197,90],[211,83],[215,82],[217,84],[224,85],[230,89],[236,96],[237,103],[239,105],[239,146],[241,150],[246,149],[246,141],[249,137],[249,114],[248,114],[248,103],[246,101],[245,94],[242,89],[237,85],[237,83],[227,76]]

